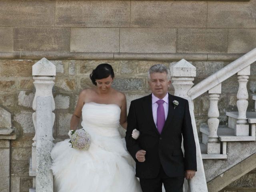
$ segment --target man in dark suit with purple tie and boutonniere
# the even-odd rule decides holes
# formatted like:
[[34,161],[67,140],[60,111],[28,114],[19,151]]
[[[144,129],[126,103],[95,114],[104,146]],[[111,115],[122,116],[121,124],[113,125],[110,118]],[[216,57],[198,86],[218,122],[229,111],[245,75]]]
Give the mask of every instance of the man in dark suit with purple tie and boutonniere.
[[[136,161],[143,192],[182,192],[184,177],[196,172],[196,145],[188,101],[168,94],[170,70],[156,64],[149,71],[152,94],[133,100],[127,118],[126,147]],[[132,131],[140,132],[138,139]],[[183,136],[184,154],[181,149]]]

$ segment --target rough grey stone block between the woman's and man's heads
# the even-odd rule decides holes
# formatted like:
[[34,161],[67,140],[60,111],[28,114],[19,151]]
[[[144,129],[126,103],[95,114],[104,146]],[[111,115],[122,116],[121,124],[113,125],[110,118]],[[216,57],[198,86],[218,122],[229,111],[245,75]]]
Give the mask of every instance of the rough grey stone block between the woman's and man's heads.
[[119,91],[141,91],[145,88],[145,79],[116,77],[112,86]]

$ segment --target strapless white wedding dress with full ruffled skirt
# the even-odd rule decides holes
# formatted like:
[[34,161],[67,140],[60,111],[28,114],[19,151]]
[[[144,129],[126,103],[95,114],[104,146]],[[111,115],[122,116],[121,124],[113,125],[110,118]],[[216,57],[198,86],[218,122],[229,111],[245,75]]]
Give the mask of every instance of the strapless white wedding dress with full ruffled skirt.
[[120,112],[116,104],[84,104],[82,126],[90,148],[71,148],[69,139],[54,146],[54,192],[141,192],[135,162],[118,132]]

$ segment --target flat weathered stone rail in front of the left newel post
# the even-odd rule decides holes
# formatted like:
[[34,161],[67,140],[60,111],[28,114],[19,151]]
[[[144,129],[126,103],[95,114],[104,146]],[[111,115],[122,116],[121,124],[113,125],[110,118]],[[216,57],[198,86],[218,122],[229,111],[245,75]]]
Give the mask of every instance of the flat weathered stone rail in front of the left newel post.
[[36,192],[53,192],[53,176],[50,170],[52,151],[52,98],[36,98]]

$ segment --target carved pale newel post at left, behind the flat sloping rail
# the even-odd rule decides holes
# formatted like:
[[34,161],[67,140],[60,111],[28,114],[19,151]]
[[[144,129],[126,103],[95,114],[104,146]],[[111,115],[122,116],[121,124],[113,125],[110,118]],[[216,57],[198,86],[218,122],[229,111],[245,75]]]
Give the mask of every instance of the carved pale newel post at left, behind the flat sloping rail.
[[[36,88],[36,94],[33,100],[33,110],[37,110],[36,106],[36,100],[38,96],[40,97],[51,97],[52,98],[52,108],[53,111],[55,109],[55,103],[54,98],[52,95],[52,87],[54,86],[55,76],[56,76],[56,67],[54,64],[52,64],[50,61],[48,61],[46,58],[42,58],[40,61],[36,62],[36,64],[32,67],[32,75],[34,81],[34,86]],[[32,115],[33,123],[35,127],[35,133],[37,134],[37,122],[36,122],[36,112]],[[55,115],[52,113],[52,118],[50,119],[52,121],[52,126],[54,124]],[[36,188],[36,138],[37,136],[34,136],[33,138],[33,144],[32,144],[32,158],[30,160],[30,176],[33,176],[33,189]]]

